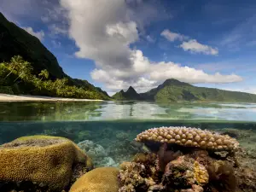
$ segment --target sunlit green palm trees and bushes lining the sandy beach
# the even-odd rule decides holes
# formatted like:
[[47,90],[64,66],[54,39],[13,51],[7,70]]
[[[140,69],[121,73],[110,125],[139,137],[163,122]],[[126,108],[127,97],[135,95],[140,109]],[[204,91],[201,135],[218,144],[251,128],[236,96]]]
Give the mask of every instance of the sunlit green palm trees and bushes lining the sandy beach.
[[0,63],[0,92],[9,94],[31,94],[37,96],[60,96],[88,99],[108,99],[101,91],[86,90],[83,86],[68,85],[68,79],[49,79],[44,69],[33,73],[30,62],[14,56],[9,62]]

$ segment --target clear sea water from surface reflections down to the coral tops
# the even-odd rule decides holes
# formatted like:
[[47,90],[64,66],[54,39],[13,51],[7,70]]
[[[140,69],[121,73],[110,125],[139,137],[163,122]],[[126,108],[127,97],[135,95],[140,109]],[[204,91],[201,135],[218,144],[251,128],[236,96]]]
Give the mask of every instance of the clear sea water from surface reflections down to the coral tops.
[[108,157],[98,166],[130,160],[137,153],[132,146],[137,134],[160,126],[249,131],[252,141],[241,143],[256,148],[255,103],[0,102],[0,144],[38,134],[90,141]]

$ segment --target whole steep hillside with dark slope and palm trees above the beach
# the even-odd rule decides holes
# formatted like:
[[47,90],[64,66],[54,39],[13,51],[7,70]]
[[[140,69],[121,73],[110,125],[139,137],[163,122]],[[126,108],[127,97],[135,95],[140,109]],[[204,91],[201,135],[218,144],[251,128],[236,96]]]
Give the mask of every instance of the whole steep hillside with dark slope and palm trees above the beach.
[[[88,81],[69,77],[63,72],[55,55],[38,38],[16,26],[15,23],[9,22],[0,13],[0,63],[3,62],[1,65],[2,75],[4,75],[3,66],[8,66],[7,63],[15,55],[21,55],[25,60],[22,61],[24,66],[17,68],[18,71],[21,70],[23,73],[19,71],[20,77],[18,75],[16,77],[18,79],[16,79],[15,74],[18,72],[15,69],[4,81],[1,79],[0,93],[110,99],[105,91],[95,87]],[[27,65],[26,61],[29,65]],[[5,67],[4,70],[9,69]],[[30,77],[36,77],[37,79],[28,80],[23,77],[25,71],[31,73]],[[45,76],[46,74],[47,76]],[[11,78],[15,79],[10,80]],[[41,81],[38,81],[38,79],[41,79]],[[57,86],[58,88],[55,90],[51,86]],[[64,93],[67,90],[68,93]],[[78,95],[74,95],[74,93]]]

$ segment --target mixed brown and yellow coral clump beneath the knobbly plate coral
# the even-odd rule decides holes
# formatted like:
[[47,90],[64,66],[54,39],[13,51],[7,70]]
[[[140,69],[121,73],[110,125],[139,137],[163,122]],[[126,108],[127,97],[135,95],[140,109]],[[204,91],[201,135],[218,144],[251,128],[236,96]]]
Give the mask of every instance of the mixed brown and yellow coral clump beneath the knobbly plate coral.
[[235,168],[227,160],[216,160],[204,150],[187,154],[178,151],[171,154],[170,162],[162,171],[159,165],[164,165],[160,163],[164,158],[160,158],[160,154],[170,152],[162,148],[166,146],[161,146],[157,154],[137,154],[131,162],[121,164],[119,192],[236,191]]

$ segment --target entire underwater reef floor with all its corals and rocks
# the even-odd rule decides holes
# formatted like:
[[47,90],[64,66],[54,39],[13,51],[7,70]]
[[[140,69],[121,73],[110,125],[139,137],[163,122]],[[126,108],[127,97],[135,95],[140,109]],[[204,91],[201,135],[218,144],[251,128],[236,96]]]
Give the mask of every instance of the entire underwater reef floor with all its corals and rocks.
[[47,134],[0,145],[1,192],[256,191],[253,130],[117,131],[107,147],[86,131],[76,143]]

